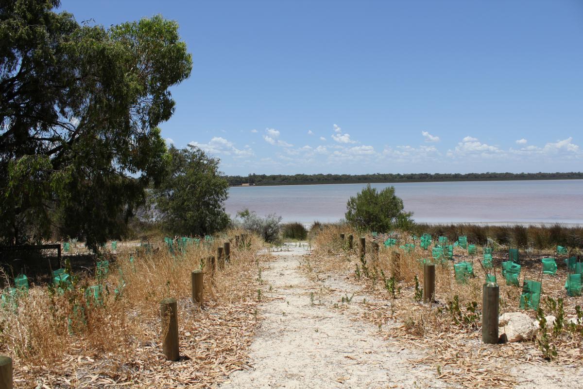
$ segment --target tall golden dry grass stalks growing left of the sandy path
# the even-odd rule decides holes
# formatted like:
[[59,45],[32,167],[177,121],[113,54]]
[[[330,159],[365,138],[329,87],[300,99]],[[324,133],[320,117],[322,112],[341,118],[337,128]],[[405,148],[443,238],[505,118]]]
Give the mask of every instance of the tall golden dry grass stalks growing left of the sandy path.
[[[120,250],[106,276],[80,279],[73,275],[72,287],[64,291],[52,285],[31,285],[29,292],[20,293],[16,306],[0,309],[0,353],[12,356],[18,367],[15,371],[24,372],[21,367],[27,366],[24,387],[35,387],[37,377],[44,374],[61,376],[59,369],[68,355],[97,360],[107,354],[115,359],[115,366],[131,365],[140,345],[159,341],[160,301],[166,297],[179,301],[181,332],[195,336],[206,314],[197,314],[202,311],[189,298],[193,270],[205,271],[205,310],[254,300],[261,238],[248,235],[244,247],[231,243],[230,262],[217,263],[213,277],[203,260],[216,255],[229,236],[241,233],[239,229],[220,239],[203,239],[184,253],[169,253],[163,242],[150,253],[140,248]],[[89,286],[99,286],[97,299],[87,292]],[[113,365],[112,369],[118,369]]]

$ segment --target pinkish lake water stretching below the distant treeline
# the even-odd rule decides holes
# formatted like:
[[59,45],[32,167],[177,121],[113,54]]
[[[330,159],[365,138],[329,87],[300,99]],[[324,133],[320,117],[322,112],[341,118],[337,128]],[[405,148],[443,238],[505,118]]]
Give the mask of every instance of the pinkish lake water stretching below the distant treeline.
[[[420,223],[583,224],[583,180],[465,181],[371,184],[394,186]],[[276,213],[283,222],[336,222],[366,184],[231,187],[226,211]]]

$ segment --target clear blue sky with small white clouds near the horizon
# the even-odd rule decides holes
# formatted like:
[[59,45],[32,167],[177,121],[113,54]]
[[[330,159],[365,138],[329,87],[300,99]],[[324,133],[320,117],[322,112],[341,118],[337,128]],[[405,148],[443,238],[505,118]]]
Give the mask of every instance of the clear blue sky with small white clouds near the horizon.
[[62,1],[160,13],[194,58],[161,125],[227,174],[583,170],[583,2]]

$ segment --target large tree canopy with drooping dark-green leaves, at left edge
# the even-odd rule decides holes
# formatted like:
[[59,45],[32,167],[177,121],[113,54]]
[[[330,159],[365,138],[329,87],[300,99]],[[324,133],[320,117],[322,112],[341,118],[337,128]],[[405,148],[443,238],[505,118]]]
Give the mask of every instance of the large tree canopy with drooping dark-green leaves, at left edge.
[[0,0],[0,236],[5,243],[122,232],[166,169],[169,87],[190,75],[177,23],[108,29],[54,11],[58,0]]

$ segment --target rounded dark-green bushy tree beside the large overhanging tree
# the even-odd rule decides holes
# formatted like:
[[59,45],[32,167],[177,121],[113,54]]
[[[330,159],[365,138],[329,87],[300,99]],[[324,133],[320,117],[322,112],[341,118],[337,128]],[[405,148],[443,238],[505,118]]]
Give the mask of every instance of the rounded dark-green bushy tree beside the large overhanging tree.
[[210,235],[227,227],[224,212],[229,184],[219,171],[219,160],[195,146],[168,149],[169,170],[154,190],[156,211],[173,234]]

